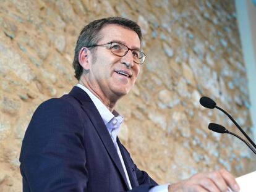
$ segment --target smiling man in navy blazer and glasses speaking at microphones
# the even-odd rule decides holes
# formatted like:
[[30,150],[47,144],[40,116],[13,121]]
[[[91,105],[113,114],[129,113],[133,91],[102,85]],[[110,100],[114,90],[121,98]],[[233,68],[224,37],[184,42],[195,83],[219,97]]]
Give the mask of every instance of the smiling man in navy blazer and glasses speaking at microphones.
[[121,17],[83,28],[73,62],[79,84],[69,94],[43,102],[25,133],[23,191],[239,190],[226,170],[158,186],[118,140],[123,117],[114,106],[129,93],[145,61],[141,41],[140,27]]

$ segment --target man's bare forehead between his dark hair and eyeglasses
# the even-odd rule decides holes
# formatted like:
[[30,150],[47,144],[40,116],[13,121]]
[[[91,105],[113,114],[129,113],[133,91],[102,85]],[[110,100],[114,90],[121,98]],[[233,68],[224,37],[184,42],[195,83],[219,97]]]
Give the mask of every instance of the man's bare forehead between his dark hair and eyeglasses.
[[108,24],[101,28],[99,35],[99,44],[117,41],[125,44],[129,48],[140,49],[140,39],[137,33],[121,25]]

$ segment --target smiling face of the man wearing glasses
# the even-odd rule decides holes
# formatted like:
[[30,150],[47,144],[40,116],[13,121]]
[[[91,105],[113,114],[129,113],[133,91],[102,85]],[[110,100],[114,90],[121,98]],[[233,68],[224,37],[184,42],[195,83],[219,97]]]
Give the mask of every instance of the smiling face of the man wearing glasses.
[[[100,36],[98,44],[118,42],[131,49],[140,49],[137,33],[120,25],[106,25],[100,30]],[[94,49],[93,53],[90,51],[92,57],[88,57],[90,69],[87,83],[100,98],[104,97],[101,99],[119,99],[134,85],[140,66],[133,61],[131,51],[128,51],[126,56],[119,57],[106,46]],[[129,74],[129,77],[120,72]]]

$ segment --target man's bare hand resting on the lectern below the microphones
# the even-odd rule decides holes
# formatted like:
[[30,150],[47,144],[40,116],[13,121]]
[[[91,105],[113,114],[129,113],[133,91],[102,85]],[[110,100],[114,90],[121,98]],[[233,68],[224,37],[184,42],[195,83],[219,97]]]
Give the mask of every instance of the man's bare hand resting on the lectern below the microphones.
[[215,172],[197,173],[179,183],[169,185],[168,191],[182,192],[222,192],[228,191],[228,187],[238,192],[239,186],[231,173],[225,169]]

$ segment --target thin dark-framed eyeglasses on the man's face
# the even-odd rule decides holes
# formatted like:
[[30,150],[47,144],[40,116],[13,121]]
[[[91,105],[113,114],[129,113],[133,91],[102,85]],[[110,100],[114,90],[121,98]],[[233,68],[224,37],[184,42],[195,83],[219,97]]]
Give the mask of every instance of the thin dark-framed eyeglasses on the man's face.
[[130,50],[132,51],[132,56],[134,58],[134,62],[137,64],[143,64],[143,62],[146,59],[146,55],[143,54],[143,52],[137,50],[137,49],[130,49],[128,48],[126,45],[122,44],[122,43],[117,43],[117,42],[109,42],[109,43],[105,43],[105,44],[94,44],[91,46],[87,46],[87,48],[92,48],[92,47],[97,47],[97,46],[106,46],[106,45],[110,45],[108,46],[108,49],[111,50],[111,52],[119,57],[124,57],[127,52]]

